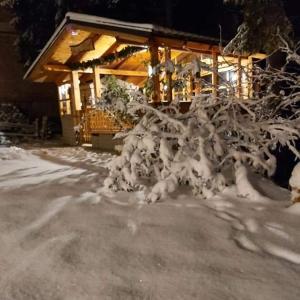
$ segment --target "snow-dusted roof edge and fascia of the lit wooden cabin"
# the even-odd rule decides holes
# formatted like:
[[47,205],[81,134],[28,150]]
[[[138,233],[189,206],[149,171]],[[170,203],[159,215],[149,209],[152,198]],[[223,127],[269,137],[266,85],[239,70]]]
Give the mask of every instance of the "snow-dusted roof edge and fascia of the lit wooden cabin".
[[62,40],[63,32],[65,31],[68,25],[80,26],[81,28],[98,28],[101,30],[109,30],[113,32],[115,31],[118,33],[121,32],[124,34],[134,34],[141,37],[160,36],[166,38],[176,38],[178,40],[191,41],[196,43],[200,42],[213,45],[218,45],[219,43],[219,41],[215,38],[177,31],[153,24],[124,22],[110,18],[69,12],[66,14],[61,24],[57,27],[57,29],[55,30],[45,47],[42,49],[38,57],[28,68],[26,74],[24,75],[24,79],[30,76],[35,67],[40,63],[41,59],[45,56],[47,51],[49,51],[49,49],[51,49],[51,47],[53,47],[55,43],[58,43],[60,40]]

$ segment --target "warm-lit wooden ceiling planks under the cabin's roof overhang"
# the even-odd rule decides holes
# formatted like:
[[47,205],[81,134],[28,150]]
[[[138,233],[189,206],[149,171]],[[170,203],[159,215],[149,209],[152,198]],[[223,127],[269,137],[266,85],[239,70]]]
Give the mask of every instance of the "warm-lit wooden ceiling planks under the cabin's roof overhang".
[[[80,45],[89,38],[93,40],[95,49],[72,55],[70,46]],[[164,61],[164,47],[169,47],[172,49],[171,59],[176,63],[189,60],[191,55],[197,55],[195,53],[211,54],[213,51],[219,50],[216,45],[189,42],[175,38],[152,37],[152,41],[160,47],[162,61]],[[49,81],[54,78],[55,82],[63,82],[67,79],[68,72],[70,72],[70,69],[65,65],[66,62],[82,62],[96,59],[103,55],[120,51],[129,45],[147,46],[149,45],[149,38],[92,26],[71,24],[71,27],[69,26],[64,29],[64,32],[59,36],[57,41],[55,41],[54,45],[51,45],[49,51],[47,51],[47,55],[39,62],[39,66],[42,66],[42,68],[36,68],[35,70],[38,69],[38,71],[35,71],[36,74],[32,74],[32,78],[44,81]],[[108,71],[102,74],[111,73],[141,86],[148,75],[147,65],[149,62],[150,53],[145,49],[145,51],[138,52],[126,59],[121,59],[105,66],[105,69],[123,70],[124,72]],[[126,73],[126,71],[128,72]],[[88,70],[86,70],[86,72],[88,72]],[[49,76],[49,73],[51,73],[51,76]]]

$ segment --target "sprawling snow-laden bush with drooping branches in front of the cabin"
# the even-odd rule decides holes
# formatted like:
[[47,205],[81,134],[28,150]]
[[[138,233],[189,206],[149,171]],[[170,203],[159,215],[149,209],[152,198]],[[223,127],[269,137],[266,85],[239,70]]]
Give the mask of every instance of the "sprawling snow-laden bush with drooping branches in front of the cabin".
[[[195,60],[181,70],[182,78],[201,67],[207,66]],[[261,89],[251,99],[234,93],[203,94],[193,97],[186,113],[181,112],[179,101],[154,108],[137,93],[127,112],[139,121],[131,131],[118,135],[125,137],[123,151],[110,164],[105,185],[126,191],[149,188],[149,202],[179,185],[210,197],[231,180],[238,180],[242,189],[249,187],[248,167],[273,175],[272,150],[278,146],[287,146],[300,158],[295,147],[300,138],[300,76],[284,69],[254,73],[253,81]],[[236,178],[227,175],[234,166]]]

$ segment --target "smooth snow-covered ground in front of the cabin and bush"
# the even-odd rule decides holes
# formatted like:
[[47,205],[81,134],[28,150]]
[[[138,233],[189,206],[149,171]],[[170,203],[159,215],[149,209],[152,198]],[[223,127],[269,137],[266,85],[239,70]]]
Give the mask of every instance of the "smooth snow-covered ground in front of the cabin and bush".
[[[114,194],[110,154],[0,148],[0,299],[300,299],[300,204]],[[273,199],[273,200],[271,200]]]

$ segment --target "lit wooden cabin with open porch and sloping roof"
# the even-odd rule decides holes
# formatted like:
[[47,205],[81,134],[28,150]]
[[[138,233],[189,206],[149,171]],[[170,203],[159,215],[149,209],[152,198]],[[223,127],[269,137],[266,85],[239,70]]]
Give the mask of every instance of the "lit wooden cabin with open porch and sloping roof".
[[[126,52],[125,49],[134,47],[139,47],[139,50],[114,59],[122,50]],[[215,70],[201,70],[199,76],[210,83],[207,86],[197,84],[191,76],[188,87],[175,90],[172,87],[172,74],[151,72],[160,62],[171,59],[176,64],[184,65],[195,56]],[[142,89],[151,76],[151,101],[155,103],[169,102],[176,96],[180,96],[183,103],[188,103],[193,95],[200,92],[217,94],[222,87],[221,77],[233,82],[239,96],[247,97],[251,93],[251,84],[241,68],[251,72],[253,60],[260,58],[260,54],[224,57],[220,53],[219,40],[210,37],[152,24],[68,13],[24,78],[34,82],[56,83],[63,137],[67,143],[75,143],[74,127],[84,116],[80,140],[92,140],[94,146],[108,149],[113,147],[112,136],[121,128],[110,115],[93,109],[89,102],[91,98],[101,98],[103,77],[114,75],[132,87]],[[95,59],[98,59],[98,63],[102,59],[103,65],[92,65]],[[80,68],[72,67],[76,65]],[[160,76],[165,76],[164,84]]]

